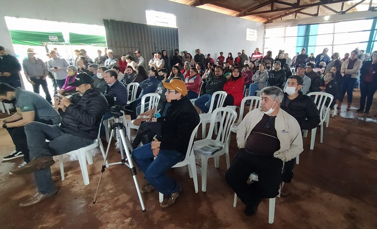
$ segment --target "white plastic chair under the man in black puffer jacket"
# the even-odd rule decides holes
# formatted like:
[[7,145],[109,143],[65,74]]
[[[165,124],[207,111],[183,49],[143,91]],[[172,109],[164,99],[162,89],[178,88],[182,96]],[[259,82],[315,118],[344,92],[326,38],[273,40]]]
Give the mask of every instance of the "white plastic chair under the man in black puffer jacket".
[[[100,128],[101,128],[101,125],[100,125]],[[100,130],[98,131],[97,139],[94,140],[93,144],[90,144],[89,146],[85,146],[78,150],[74,150],[68,153],[68,154],[76,154],[77,157],[79,158],[82,178],[84,179],[85,185],[89,184],[88,168],[86,166],[85,157],[88,160],[89,165],[93,164],[93,157],[90,151],[97,147],[100,147],[102,156],[105,158],[105,150],[104,150],[104,146],[102,145],[101,138],[100,138]],[[63,154],[59,155],[59,164],[60,164],[61,180],[64,180],[65,176],[64,176],[64,167],[63,167]]]

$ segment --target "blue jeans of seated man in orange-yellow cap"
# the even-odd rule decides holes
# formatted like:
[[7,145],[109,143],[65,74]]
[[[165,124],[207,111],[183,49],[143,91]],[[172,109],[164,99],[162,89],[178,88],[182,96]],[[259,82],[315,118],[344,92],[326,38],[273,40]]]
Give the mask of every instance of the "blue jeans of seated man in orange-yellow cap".
[[166,176],[165,172],[178,162],[185,159],[183,153],[175,150],[160,150],[153,160],[151,143],[136,148],[132,152],[132,158],[136,165],[144,173],[145,179],[163,195],[170,195],[180,191],[179,184]]

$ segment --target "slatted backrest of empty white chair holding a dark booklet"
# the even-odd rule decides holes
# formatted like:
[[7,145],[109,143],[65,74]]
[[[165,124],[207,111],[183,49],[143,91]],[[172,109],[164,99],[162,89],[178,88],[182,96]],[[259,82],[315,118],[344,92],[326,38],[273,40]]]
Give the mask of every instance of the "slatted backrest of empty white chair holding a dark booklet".
[[[220,117],[220,120],[216,120],[216,117]],[[210,129],[208,131],[208,135],[206,139],[212,139],[212,134],[213,134],[215,125],[219,123],[219,129],[218,129],[215,140],[222,142],[223,146],[225,146],[230,136],[230,128],[236,121],[236,118],[237,118],[236,111],[228,107],[216,108],[214,112],[212,112]]]

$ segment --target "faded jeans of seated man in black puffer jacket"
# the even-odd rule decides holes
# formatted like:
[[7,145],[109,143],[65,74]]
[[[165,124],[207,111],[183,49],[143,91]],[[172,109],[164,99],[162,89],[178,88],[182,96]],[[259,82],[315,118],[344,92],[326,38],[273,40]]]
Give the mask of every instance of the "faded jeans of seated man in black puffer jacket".
[[[27,146],[30,150],[30,159],[68,153],[94,142],[94,139],[63,133],[59,125],[47,125],[38,122],[27,124],[25,133]],[[46,142],[46,139],[50,142]],[[52,194],[56,191],[50,167],[34,172],[34,179],[39,193]]]

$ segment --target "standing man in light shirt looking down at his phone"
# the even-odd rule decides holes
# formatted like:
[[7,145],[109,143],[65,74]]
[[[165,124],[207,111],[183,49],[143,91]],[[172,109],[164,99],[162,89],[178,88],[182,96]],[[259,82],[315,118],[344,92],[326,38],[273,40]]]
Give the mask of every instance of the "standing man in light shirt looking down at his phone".
[[61,89],[67,78],[67,67],[69,64],[63,58],[57,56],[56,52],[50,51],[51,59],[47,62],[47,67],[53,73],[57,86]]

